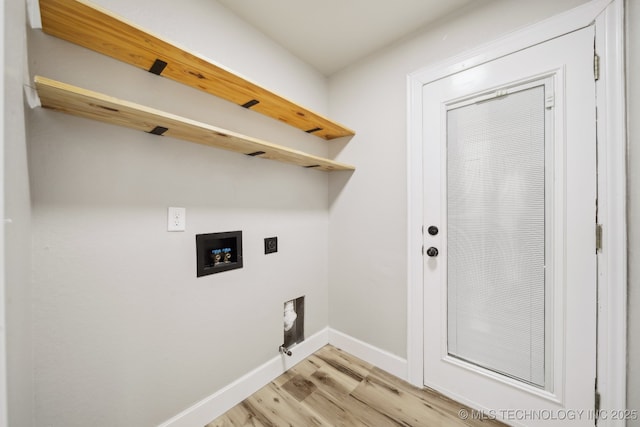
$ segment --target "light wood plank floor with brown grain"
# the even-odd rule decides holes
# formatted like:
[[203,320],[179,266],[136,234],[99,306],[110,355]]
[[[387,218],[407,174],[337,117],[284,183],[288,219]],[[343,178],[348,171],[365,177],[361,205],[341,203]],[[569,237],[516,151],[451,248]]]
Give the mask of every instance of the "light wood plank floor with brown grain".
[[504,425],[461,420],[461,409],[328,345],[206,427]]

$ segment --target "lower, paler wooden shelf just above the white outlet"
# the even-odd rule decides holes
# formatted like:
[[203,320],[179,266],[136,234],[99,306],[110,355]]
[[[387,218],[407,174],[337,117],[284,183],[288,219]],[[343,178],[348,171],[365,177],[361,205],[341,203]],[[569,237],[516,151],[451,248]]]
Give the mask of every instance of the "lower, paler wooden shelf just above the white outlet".
[[45,77],[36,76],[35,85],[44,108],[305,168],[323,171],[355,170],[350,165]]

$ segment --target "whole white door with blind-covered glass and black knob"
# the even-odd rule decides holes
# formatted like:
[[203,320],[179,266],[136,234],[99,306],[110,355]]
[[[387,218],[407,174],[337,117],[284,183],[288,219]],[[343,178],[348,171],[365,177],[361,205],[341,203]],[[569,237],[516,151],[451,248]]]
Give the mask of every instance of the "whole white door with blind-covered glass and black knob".
[[424,383],[509,424],[594,424],[593,44],[423,89]]

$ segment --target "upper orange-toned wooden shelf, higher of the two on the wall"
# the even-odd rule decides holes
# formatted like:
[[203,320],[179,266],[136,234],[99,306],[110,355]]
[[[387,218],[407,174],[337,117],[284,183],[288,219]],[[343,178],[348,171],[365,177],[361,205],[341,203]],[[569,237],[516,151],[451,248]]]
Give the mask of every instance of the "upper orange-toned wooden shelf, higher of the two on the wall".
[[355,132],[82,0],[40,0],[45,33],[330,140]]

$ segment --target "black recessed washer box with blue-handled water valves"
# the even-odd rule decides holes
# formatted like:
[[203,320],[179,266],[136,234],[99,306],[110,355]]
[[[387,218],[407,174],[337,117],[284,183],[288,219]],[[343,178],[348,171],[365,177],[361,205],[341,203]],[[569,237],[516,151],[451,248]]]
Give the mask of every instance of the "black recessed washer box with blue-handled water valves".
[[242,231],[196,234],[197,276],[242,268]]

